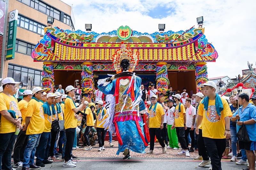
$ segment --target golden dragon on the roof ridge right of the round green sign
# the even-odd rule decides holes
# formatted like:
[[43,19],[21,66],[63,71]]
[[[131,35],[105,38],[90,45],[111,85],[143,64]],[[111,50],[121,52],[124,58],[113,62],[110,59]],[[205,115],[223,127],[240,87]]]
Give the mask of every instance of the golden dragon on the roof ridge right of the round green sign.
[[195,34],[191,34],[191,33],[187,32],[187,33],[183,34],[182,36],[180,36],[181,34],[178,34],[178,33],[173,33],[170,36],[167,34],[165,34],[164,36],[156,35],[156,41],[161,42],[161,43],[169,43],[172,40],[175,40],[177,42],[187,41],[188,39],[191,39],[191,38],[197,36],[202,31],[202,29],[203,28],[196,28],[193,30],[193,32]]

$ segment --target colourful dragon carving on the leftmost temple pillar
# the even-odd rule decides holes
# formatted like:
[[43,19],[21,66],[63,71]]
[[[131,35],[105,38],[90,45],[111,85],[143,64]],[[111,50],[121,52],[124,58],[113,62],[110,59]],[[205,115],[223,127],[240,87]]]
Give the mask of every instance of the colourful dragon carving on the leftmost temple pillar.
[[42,72],[42,85],[46,89],[46,93],[54,91],[54,73],[53,65],[44,64]]

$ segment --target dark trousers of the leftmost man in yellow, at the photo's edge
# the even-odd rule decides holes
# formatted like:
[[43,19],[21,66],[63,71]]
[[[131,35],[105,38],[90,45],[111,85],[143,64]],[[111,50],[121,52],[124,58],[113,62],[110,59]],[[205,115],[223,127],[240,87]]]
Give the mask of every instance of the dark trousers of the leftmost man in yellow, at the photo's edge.
[[14,132],[0,134],[0,169],[12,169],[12,149],[16,138]]

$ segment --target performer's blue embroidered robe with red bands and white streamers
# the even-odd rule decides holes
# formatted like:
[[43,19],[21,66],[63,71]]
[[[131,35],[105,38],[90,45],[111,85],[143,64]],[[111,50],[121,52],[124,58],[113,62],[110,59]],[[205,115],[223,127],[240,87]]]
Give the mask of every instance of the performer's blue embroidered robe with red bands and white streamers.
[[141,99],[140,86],[141,78],[135,74],[132,77],[114,79],[112,82],[106,82],[106,79],[98,81],[100,91],[106,95],[114,95],[112,106],[109,107],[110,116],[104,127],[116,132],[119,142],[116,154],[124,152],[125,148],[145,153],[145,148],[148,146],[140,116],[146,112],[145,104]]

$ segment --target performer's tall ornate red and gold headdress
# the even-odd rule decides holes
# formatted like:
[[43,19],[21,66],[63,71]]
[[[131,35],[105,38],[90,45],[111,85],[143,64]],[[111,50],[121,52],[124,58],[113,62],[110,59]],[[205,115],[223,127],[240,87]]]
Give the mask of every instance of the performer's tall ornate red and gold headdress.
[[134,71],[135,67],[138,65],[139,62],[140,52],[136,51],[133,54],[133,50],[130,47],[126,47],[124,42],[121,43],[121,49],[115,51],[115,54],[112,56],[113,66],[117,73],[121,73],[121,61],[127,59],[130,61],[130,69],[129,71]]

